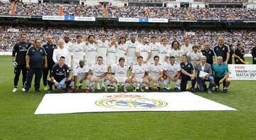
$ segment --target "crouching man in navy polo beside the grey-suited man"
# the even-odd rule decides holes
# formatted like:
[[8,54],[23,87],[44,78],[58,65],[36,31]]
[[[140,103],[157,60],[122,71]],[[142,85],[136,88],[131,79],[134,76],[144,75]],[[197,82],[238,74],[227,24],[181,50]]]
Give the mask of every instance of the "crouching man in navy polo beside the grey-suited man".
[[191,92],[195,92],[196,71],[192,63],[188,62],[188,56],[183,54],[181,60],[181,91],[186,91],[188,80],[192,82]]

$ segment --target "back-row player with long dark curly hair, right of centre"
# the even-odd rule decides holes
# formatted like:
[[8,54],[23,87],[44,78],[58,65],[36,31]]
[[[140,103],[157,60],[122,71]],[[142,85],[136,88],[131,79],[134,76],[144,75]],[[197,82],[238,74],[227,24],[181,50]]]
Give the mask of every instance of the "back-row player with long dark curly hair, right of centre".
[[176,62],[180,62],[179,57],[182,55],[182,51],[180,49],[180,44],[178,41],[173,41],[171,43],[171,50],[166,54],[166,62],[169,61],[169,57],[174,56]]

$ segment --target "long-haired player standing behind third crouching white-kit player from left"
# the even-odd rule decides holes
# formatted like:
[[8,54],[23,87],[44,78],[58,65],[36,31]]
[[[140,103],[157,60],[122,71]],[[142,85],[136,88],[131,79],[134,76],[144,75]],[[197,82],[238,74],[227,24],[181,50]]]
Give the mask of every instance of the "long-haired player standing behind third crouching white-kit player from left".
[[119,60],[119,58],[124,58],[125,61],[127,61],[127,44],[126,42],[126,38],[124,36],[121,36],[119,38],[118,44],[117,44],[117,60]]

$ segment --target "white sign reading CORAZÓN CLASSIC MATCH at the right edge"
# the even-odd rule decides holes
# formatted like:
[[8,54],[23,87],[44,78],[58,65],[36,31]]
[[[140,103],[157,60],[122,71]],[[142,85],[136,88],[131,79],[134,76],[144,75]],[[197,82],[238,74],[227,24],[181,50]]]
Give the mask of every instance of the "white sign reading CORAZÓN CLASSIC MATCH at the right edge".
[[256,80],[256,65],[228,65],[231,80]]

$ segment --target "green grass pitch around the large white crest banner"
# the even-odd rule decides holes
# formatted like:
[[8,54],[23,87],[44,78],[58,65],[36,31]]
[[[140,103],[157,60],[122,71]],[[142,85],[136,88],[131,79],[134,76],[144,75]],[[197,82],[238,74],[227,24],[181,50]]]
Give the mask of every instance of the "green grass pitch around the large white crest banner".
[[256,139],[256,81],[232,81],[228,94],[196,93],[237,112],[34,115],[44,93],[11,92],[11,57],[0,56],[0,65],[0,139]]

